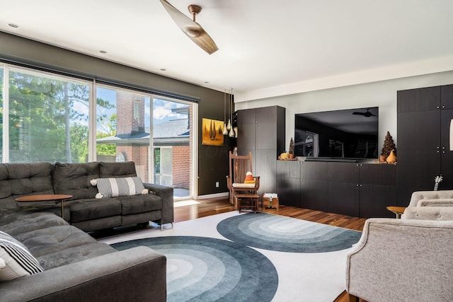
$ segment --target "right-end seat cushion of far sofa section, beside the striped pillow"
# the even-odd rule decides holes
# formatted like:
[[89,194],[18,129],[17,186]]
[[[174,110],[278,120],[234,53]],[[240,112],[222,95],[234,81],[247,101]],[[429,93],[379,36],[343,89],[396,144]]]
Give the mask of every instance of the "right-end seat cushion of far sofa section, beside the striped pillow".
[[139,214],[162,209],[161,197],[154,194],[115,197],[120,200],[122,215]]

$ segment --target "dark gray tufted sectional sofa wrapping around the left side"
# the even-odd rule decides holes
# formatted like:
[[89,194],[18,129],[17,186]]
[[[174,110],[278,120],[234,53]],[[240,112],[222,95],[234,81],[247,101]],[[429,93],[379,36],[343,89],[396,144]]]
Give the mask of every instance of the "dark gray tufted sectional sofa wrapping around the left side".
[[[164,255],[147,247],[117,251],[86,233],[149,221],[173,223],[171,187],[144,184],[152,194],[96,198],[91,180],[132,176],[134,163],[0,164],[0,231],[24,245],[43,269],[0,281],[0,300],[166,301]],[[15,200],[31,194],[73,197],[64,203],[62,219],[59,205],[34,208]]]

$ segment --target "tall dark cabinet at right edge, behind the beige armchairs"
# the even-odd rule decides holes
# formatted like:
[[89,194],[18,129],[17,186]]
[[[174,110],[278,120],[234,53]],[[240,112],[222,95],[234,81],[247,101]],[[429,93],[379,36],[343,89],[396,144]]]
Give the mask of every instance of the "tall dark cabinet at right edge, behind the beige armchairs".
[[407,206],[414,191],[453,189],[453,85],[398,91],[398,205]]

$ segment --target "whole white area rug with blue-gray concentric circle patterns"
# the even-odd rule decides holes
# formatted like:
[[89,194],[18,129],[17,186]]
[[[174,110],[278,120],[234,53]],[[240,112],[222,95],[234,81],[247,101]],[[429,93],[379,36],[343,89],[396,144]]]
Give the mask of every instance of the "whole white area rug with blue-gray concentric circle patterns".
[[100,241],[117,249],[147,245],[166,255],[168,301],[327,302],[345,290],[346,255],[360,235],[272,214],[229,212]]

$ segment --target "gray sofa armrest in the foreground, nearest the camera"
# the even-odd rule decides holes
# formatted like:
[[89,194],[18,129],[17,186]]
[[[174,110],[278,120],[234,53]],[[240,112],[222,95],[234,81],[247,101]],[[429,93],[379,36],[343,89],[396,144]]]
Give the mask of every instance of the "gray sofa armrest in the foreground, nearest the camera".
[[139,246],[0,283],[2,301],[166,301],[166,257]]

